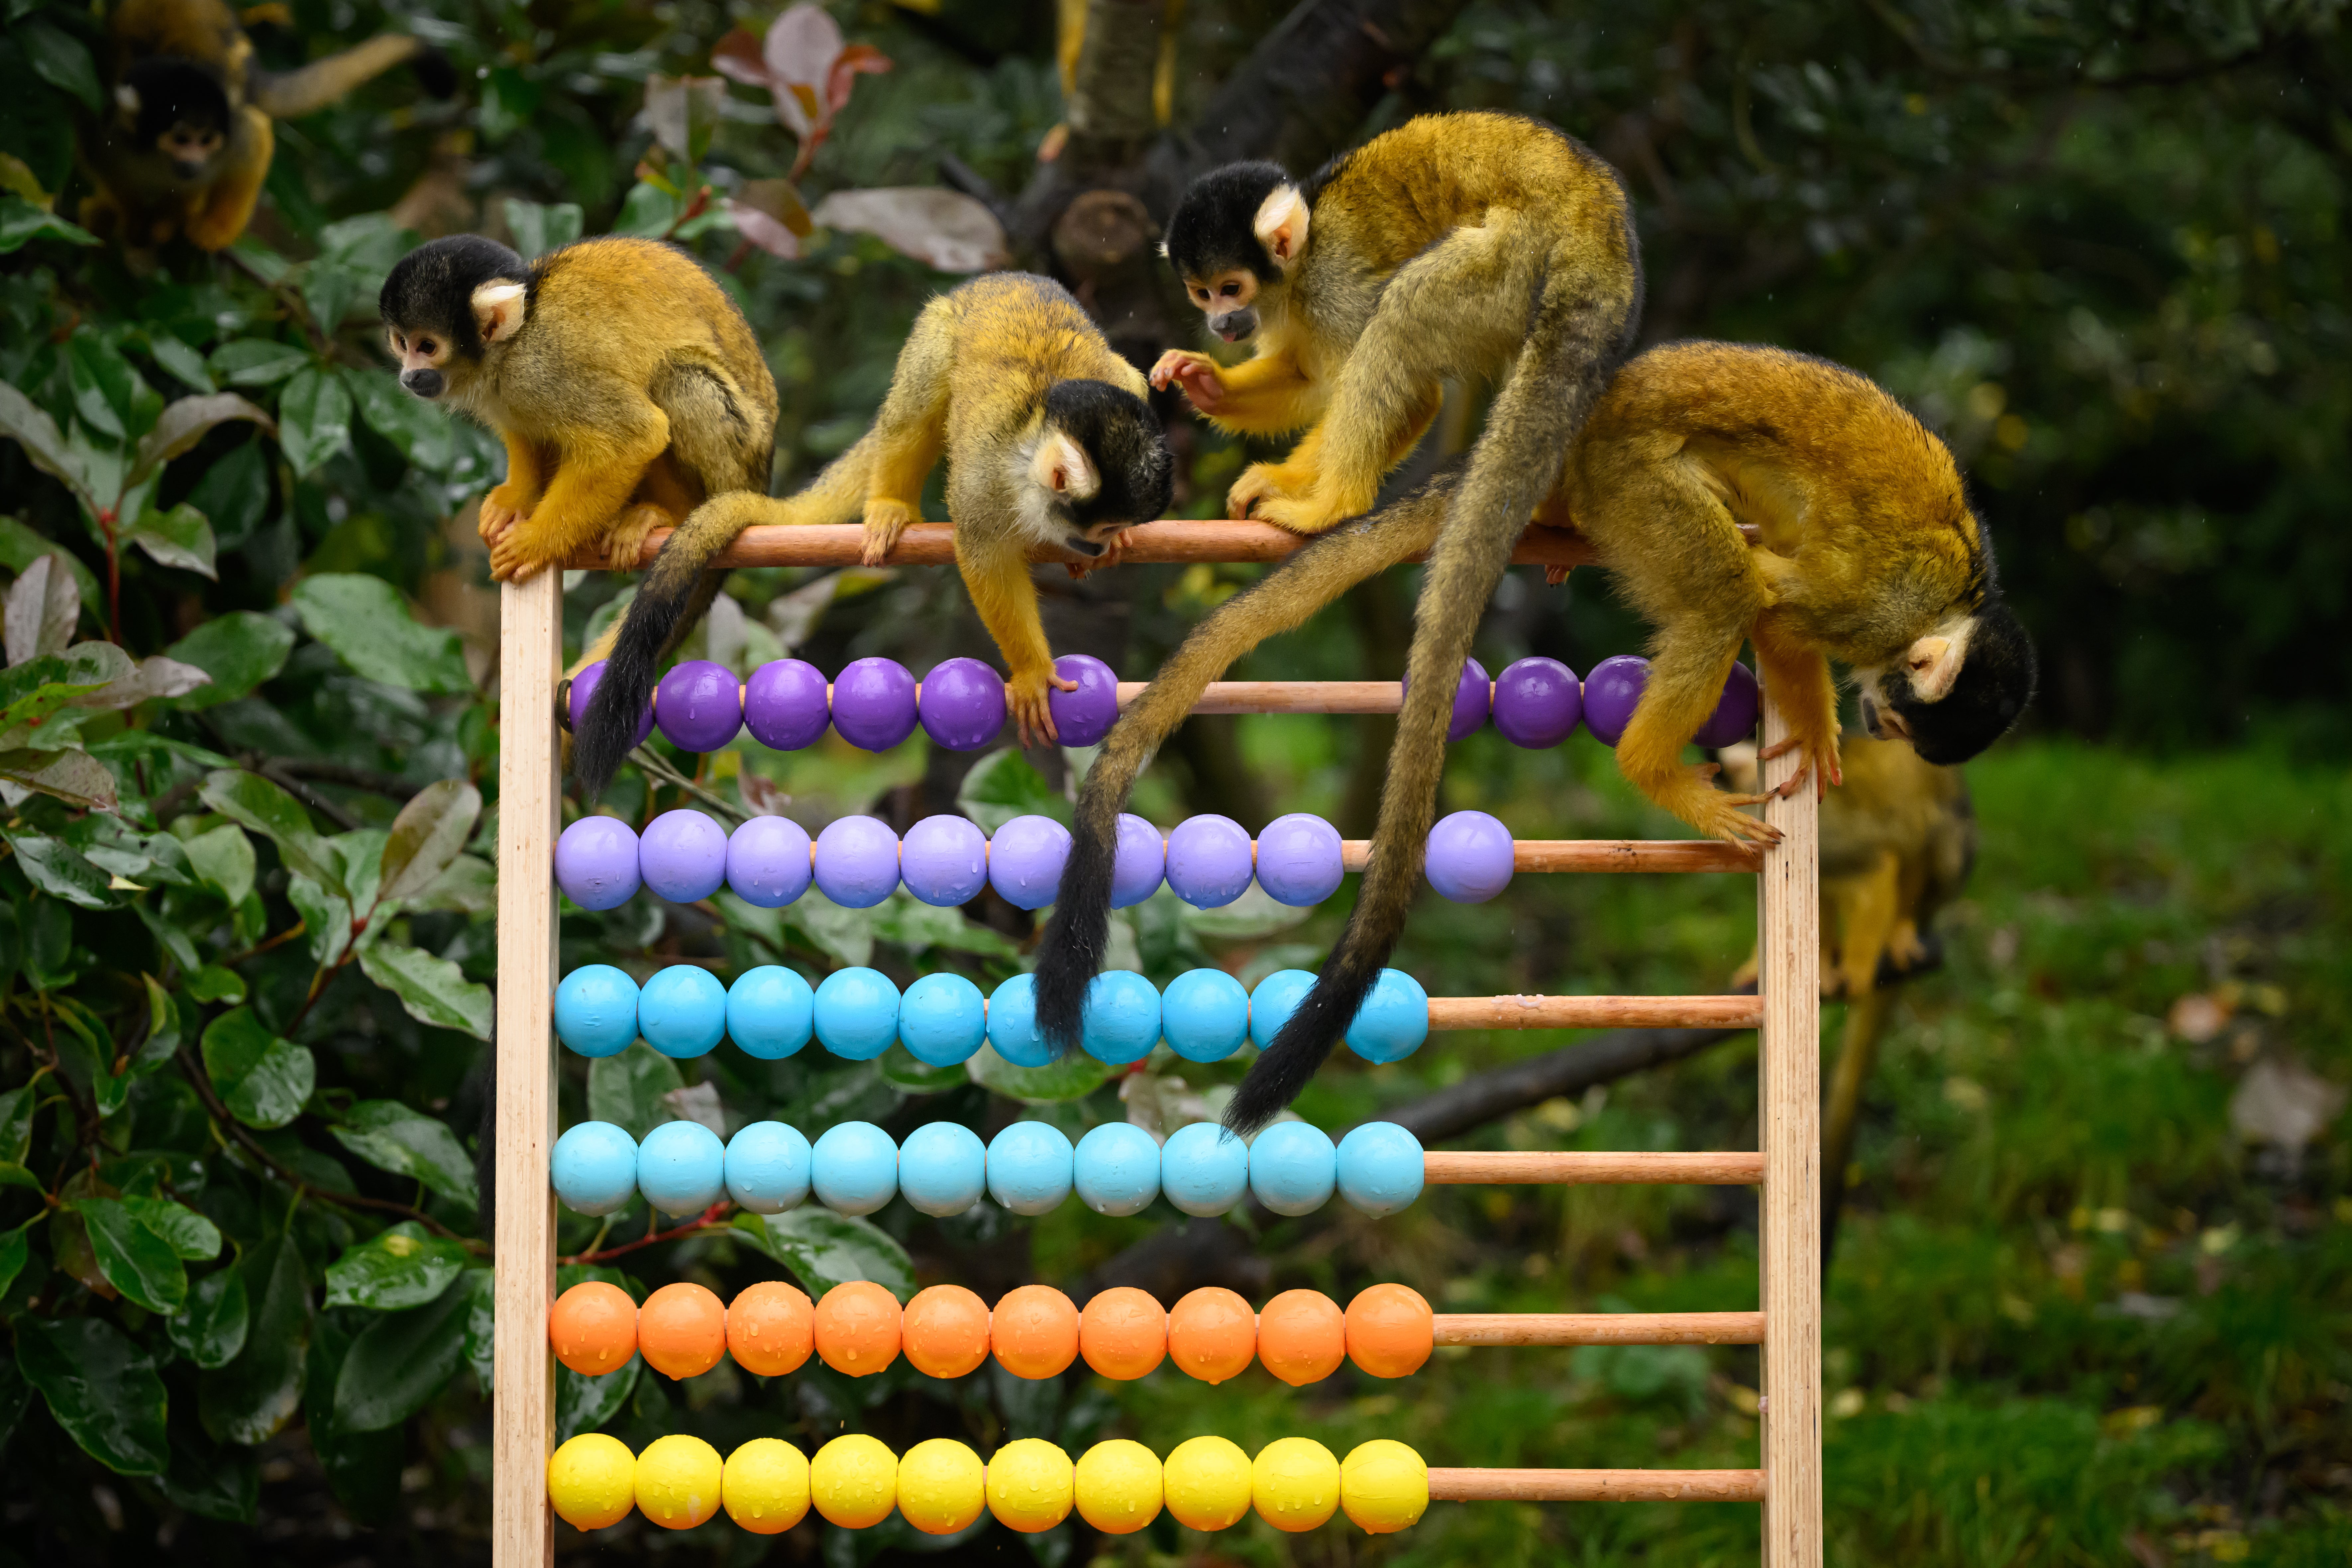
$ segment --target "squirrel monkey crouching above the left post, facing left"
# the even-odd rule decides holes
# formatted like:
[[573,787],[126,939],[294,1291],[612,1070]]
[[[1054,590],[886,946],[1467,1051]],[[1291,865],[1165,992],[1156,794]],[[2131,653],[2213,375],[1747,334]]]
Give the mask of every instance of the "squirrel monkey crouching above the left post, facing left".
[[400,386],[506,442],[480,522],[496,581],[597,548],[633,562],[708,496],[767,489],[776,378],[675,244],[583,240],[524,263],[452,235],[402,256],[379,308]]

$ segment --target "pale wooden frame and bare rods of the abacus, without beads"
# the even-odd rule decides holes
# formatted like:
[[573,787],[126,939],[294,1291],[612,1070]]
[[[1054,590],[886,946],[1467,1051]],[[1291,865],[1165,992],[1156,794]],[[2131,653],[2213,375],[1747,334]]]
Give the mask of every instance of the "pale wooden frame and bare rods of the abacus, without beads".
[[[863,531],[748,529],[720,557],[731,567],[844,567]],[[1298,538],[1251,522],[1157,522],[1127,531],[1129,562],[1275,562]],[[635,562],[581,562],[635,569]],[[891,564],[953,562],[948,524],[915,524]],[[1058,557],[1040,557],[1058,559]],[[1519,564],[1578,567],[1590,559],[1573,534],[1531,527]],[[562,799],[562,736],[555,689],[562,679],[562,574],[541,571],[499,597],[499,1110],[494,1373],[492,1373],[492,1561],[496,1568],[550,1568],[555,1512],[548,1455],[555,1448],[555,837]],[[1141,686],[1136,686],[1141,689]],[[1392,682],[1218,682],[1195,712],[1395,712]],[[1122,684],[1122,701],[1131,696]],[[1788,736],[1788,719],[1764,689],[1764,748]],[[1780,785],[1797,757],[1764,762],[1764,788]],[[1613,1502],[1745,1500],[1764,1505],[1766,1568],[1820,1568],[1820,867],[1813,790],[1771,799],[1764,820],[1780,844],[1762,856],[1693,842],[1522,844],[1517,870],[1583,872],[1757,872],[1757,1138],[1759,1154],[1552,1157],[1557,1171],[1484,1168],[1486,1154],[1432,1154],[1449,1166],[1432,1180],[1762,1180],[1762,1340],[1757,1469],[1430,1469],[1432,1500]],[[1348,844],[1350,870],[1362,844]],[[1484,999],[1482,999],[1484,1001]],[[1569,1027],[1545,1016],[1545,999],[1458,1027]],[[1661,999],[1670,1001],[1670,999]],[[1578,1023],[1583,1023],[1578,1009]],[[1498,1011],[1501,1013],[1501,1011]],[[1588,1025],[1590,1027],[1590,1025]],[[1632,1316],[1632,1314],[1628,1314]],[[1710,1314],[1712,1316],[1712,1314]],[[1590,1326],[1595,1340],[1602,1326]],[[1515,1342],[1508,1324],[1496,1340]],[[1670,1338],[1712,1338],[1703,1333]],[[1639,1333],[1642,1342],[1661,1342]]]

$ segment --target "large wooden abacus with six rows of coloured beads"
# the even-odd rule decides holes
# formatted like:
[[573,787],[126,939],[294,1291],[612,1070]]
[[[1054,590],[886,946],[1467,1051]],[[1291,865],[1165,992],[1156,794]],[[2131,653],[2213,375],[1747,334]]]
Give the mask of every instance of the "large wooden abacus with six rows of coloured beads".
[[[1298,543],[1279,529],[1247,522],[1143,524],[1127,534],[1127,559],[1272,562]],[[640,567],[659,545],[656,534],[635,562],[579,564]],[[849,564],[858,548],[856,527],[750,529],[720,564]],[[1519,564],[1576,567],[1588,559],[1573,534],[1543,527],[1531,527],[1515,552]],[[948,562],[953,531],[943,524],[910,527],[891,555],[891,564]],[[1251,1509],[1275,1528],[1308,1530],[1345,1509],[1359,1528],[1385,1533],[1411,1526],[1432,1500],[1726,1500],[1764,1505],[1766,1563],[1816,1568],[1823,1561],[1820,1009],[1811,790],[1764,806],[1783,839],[1762,853],[1710,842],[1512,842],[1494,818],[1456,813],[1439,823],[1439,832],[1449,835],[1439,856],[1439,835],[1432,832],[1432,884],[1456,900],[1491,898],[1515,872],[1755,872],[1755,997],[1430,997],[1411,976],[1390,971],[1350,1030],[1350,1046],[1362,1056],[1395,1060],[1430,1030],[1446,1027],[1752,1025],[1759,1032],[1757,1152],[1425,1152],[1392,1124],[1364,1124],[1334,1140],[1301,1121],[1275,1124],[1247,1150],[1218,1140],[1207,1124],[1178,1128],[1167,1147],[1145,1147],[1152,1145],[1145,1133],[1122,1126],[1094,1128],[1073,1147],[1035,1121],[1014,1124],[985,1147],[955,1124],[922,1126],[894,1145],[868,1124],[823,1128],[811,1143],[797,1128],[767,1121],[739,1128],[722,1145],[708,1128],[673,1121],[642,1147],[621,1128],[576,1138],[600,1126],[583,1124],[564,1135],[574,1147],[562,1150],[555,1135],[557,1048],[619,1051],[642,1032],[673,1056],[699,1056],[731,1037],[757,1056],[788,1056],[814,1039],[858,1058],[877,1056],[896,1039],[922,1060],[953,1063],[985,1041],[1018,1065],[1021,1053],[1042,1041],[1035,1041],[1018,983],[981,997],[960,976],[924,976],[898,994],[875,971],[837,971],[814,992],[797,973],[774,966],[739,976],[734,985],[677,966],[656,973],[642,990],[602,966],[557,976],[557,877],[550,872],[560,851],[560,724],[586,701],[586,679],[574,691],[562,691],[560,682],[560,574],[546,571],[520,588],[503,588],[501,597],[506,722],[499,759],[496,1159],[499,1190],[510,1194],[496,1213],[492,1544],[501,1568],[553,1563],[550,1488],[557,1481],[569,1497],[586,1500],[574,1507],[574,1523],[581,1526],[614,1523],[635,1507],[656,1526],[684,1528],[724,1507],[736,1526],[753,1533],[786,1530],[811,1507],[849,1528],[880,1523],[896,1509],[929,1533],[967,1528],[983,1512],[1016,1530],[1044,1530],[1073,1509],[1103,1533],[1138,1530],[1162,1509],[1204,1530],[1240,1523]],[[826,722],[854,745],[896,743],[917,724],[934,743],[957,750],[995,738],[1002,686],[978,661],[948,661],[920,686],[889,661],[863,663],[863,670],[842,672],[830,684],[807,665],[762,672],[767,689],[786,691],[790,701],[762,698],[755,738],[809,745]],[[1084,719],[1077,733],[1087,736],[1087,726],[1096,724],[1091,738],[1098,738],[1117,705],[1141,686],[1117,682],[1094,661],[1087,665],[1082,672],[1065,665],[1063,672],[1077,672],[1082,682],[1075,696],[1084,701],[1073,715]],[[656,712],[647,715],[647,733],[661,722],[673,741],[699,748],[720,745],[750,724],[750,684],[736,684],[715,665],[687,668],[682,677],[673,670],[673,677],[675,684],[666,679],[656,696]],[[1573,677],[1569,684],[1573,689]],[[861,693],[875,696],[868,701]],[[1609,661],[1581,686],[1583,722],[1613,741],[1613,724],[1623,724],[1637,693],[1639,661]],[[1569,717],[1559,726],[1562,701],[1550,670],[1515,665],[1496,682],[1486,682],[1484,670],[1465,670],[1451,731],[1458,738],[1491,717],[1519,745],[1552,745],[1576,724]],[[1748,701],[1752,717],[1757,693]],[[1397,703],[1395,682],[1218,682],[1202,693],[1195,712],[1395,712]],[[1717,719],[1738,719],[1745,731],[1738,705],[1740,693],[1726,691]],[[1769,689],[1759,693],[1759,708],[1769,748],[1788,733],[1788,724]],[[1769,759],[1764,785],[1788,780],[1795,766],[1795,757]],[[619,835],[609,827],[583,832],[564,851],[564,889],[574,898],[586,893],[579,898],[583,905],[604,898],[590,907],[612,907],[640,886],[687,900],[729,886],[750,903],[776,907],[816,886],[837,903],[856,907],[863,900],[870,907],[898,886],[929,903],[962,903],[990,884],[1023,907],[1042,907],[1058,879],[1054,835],[1035,825],[1051,827],[1047,818],[1007,823],[985,839],[971,823],[934,818],[910,830],[906,842],[882,823],[851,818],[849,827],[837,823],[840,832],[828,830],[814,844],[783,818],[757,818],[776,825],[753,832],[741,856],[736,839],[746,830],[727,835],[691,811],[668,818],[652,823],[642,839],[621,823],[612,825]],[[1362,842],[1343,842],[1315,818],[1282,818],[1256,842],[1225,818],[1195,818],[1169,835],[1136,818],[1131,823],[1122,823],[1120,837],[1122,903],[1141,900],[1167,879],[1200,907],[1230,903],[1251,882],[1279,903],[1303,905],[1336,891],[1338,877],[1359,870],[1364,858]],[[1105,973],[1089,994],[1084,1046],[1117,1065],[1141,1060],[1164,1037],[1190,1060],[1218,1060],[1242,1039],[1263,1041],[1279,1027],[1303,980],[1308,976],[1298,971],[1277,973],[1256,992],[1240,994],[1230,976],[1197,971],[1160,994],[1141,976]],[[612,1286],[579,1286],[555,1300],[557,1187],[574,1206],[612,1208],[644,1192],[663,1213],[694,1213],[722,1201],[776,1213],[811,1199],[844,1213],[873,1213],[896,1199],[927,1213],[957,1213],[983,1192],[1016,1213],[1042,1213],[1073,1194],[1101,1213],[1141,1213],[1164,1192],[1188,1213],[1223,1213],[1249,1197],[1275,1213],[1308,1213],[1338,1197],[1381,1215],[1411,1204],[1425,1182],[1757,1182],[1762,1312],[1437,1314],[1402,1286],[1371,1286],[1345,1307],[1291,1291],[1258,1312],[1228,1291],[1195,1291],[1169,1307],[1127,1288],[1103,1291],[1080,1309],[1044,1286],[1023,1286],[995,1307],[960,1286],[931,1286],[901,1307],[889,1291],[870,1284],[835,1286],[809,1302],[783,1281],[753,1286],[731,1305],[699,1286],[666,1286],[642,1309]],[[548,1192],[548,1199],[529,1201],[522,1197],[529,1192]],[[946,1439],[917,1443],[906,1455],[891,1455],[870,1436],[833,1439],[816,1455],[779,1439],[755,1439],[722,1458],[691,1436],[666,1436],[630,1455],[616,1439],[588,1434],[553,1455],[557,1359],[593,1375],[642,1352],[656,1371],[694,1375],[724,1352],[774,1375],[814,1354],[826,1366],[863,1375],[903,1354],[931,1375],[964,1375],[993,1356],[1025,1378],[1058,1375],[1077,1359],[1105,1378],[1141,1378],[1169,1361],[1211,1382],[1256,1359],[1284,1382],[1303,1385],[1334,1373],[1341,1361],[1376,1378],[1411,1375],[1435,1345],[1672,1342],[1762,1347],[1755,1469],[1446,1469],[1392,1441],[1362,1443],[1336,1458],[1303,1436],[1277,1439],[1254,1458],[1221,1436],[1190,1436],[1164,1455],[1110,1441],[1077,1460],[1051,1443],[1023,1439],[983,1462]],[[550,1472],[550,1460],[560,1476]]]

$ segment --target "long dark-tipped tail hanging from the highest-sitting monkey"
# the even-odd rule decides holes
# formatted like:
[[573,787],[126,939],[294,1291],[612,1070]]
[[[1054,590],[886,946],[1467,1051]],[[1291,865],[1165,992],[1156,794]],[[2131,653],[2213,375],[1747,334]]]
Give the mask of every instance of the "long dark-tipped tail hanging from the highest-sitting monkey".
[[1496,393],[1414,609],[1404,710],[1388,752],[1381,816],[1355,912],[1315,987],[1242,1079],[1225,1126],[1249,1135],[1298,1098],[1381,978],[1421,884],[1437,780],[1446,764],[1454,691],[1479,616],[1536,503],[1552,489],[1632,336],[1630,289],[1611,292],[1590,263],[1555,252],[1536,299],[1526,348]]

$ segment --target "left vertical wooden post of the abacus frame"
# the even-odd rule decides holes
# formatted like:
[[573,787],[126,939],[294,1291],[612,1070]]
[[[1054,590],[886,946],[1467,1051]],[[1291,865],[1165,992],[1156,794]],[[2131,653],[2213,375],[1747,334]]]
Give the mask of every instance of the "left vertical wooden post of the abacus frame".
[[496,1568],[555,1561],[555,677],[562,571],[499,590],[499,1119],[489,1535]]

